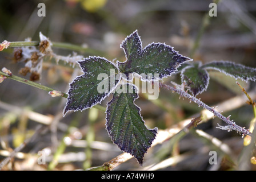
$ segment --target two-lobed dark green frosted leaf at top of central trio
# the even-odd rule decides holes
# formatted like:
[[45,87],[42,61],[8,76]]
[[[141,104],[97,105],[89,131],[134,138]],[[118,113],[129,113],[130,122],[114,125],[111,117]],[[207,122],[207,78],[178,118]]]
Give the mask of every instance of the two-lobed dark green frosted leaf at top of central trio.
[[[126,61],[117,62],[119,70],[126,75],[127,80],[131,80],[131,73],[138,75],[145,74],[142,80],[153,80],[170,76],[177,71],[177,68],[186,61],[191,61],[189,57],[180,55],[173,47],[163,43],[151,43],[142,49],[141,38],[137,31],[127,36],[122,42],[121,48],[125,51]],[[155,77],[154,74],[159,74]],[[147,77],[151,74],[150,77]],[[129,77],[130,76],[130,77]]]

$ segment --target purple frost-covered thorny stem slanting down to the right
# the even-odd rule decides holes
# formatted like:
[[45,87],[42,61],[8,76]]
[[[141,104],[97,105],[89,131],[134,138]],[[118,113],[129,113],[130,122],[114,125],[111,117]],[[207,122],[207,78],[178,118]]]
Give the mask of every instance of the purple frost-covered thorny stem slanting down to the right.
[[202,101],[200,101],[198,98],[195,98],[194,96],[191,96],[189,93],[185,92],[184,90],[175,88],[175,87],[170,86],[170,85],[162,84],[161,82],[159,82],[159,86],[161,86],[162,88],[171,90],[171,91],[173,91],[173,92],[176,92],[176,93],[178,93],[181,97],[188,98],[190,101],[193,101],[193,102],[195,102],[196,104],[198,104],[199,106],[202,106],[203,108],[209,110],[209,111],[210,111],[211,113],[213,113],[216,117],[222,119],[222,121],[226,122],[227,125],[229,125],[228,127],[222,127],[221,129],[226,129],[226,130],[228,130],[228,131],[230,131],[230,130],[235,130],[235,131],[237,131],[237,132],[239,132],[239,133],[242,133],[242,134],[244,134],[244,135],[252,136],[252,134],[250,133],[249,130],[246,130],[245,128],[243,128],[243,127],[241,127],[241,126],[238,126],[237,124],[235,124],[235,122],[230,121],[230,118],[229,118],[229,117],[223,116],[221,113],[219,113],[218,111],[216,111],[213,107],[210,107],[210,106],[206,105],[205,103],[203,103]]

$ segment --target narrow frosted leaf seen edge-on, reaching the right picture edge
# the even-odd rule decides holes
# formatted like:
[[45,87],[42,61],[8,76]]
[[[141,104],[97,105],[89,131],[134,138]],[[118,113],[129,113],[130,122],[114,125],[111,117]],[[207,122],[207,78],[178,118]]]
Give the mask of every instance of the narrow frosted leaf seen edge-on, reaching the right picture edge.
[[225,73],[234,78],[241,78],[242,80],[256,81],[256,69],[246,67],[242,64],[232,63],[230,61],[213,61],[203,65],[204,69],[215,69],[219,72]]

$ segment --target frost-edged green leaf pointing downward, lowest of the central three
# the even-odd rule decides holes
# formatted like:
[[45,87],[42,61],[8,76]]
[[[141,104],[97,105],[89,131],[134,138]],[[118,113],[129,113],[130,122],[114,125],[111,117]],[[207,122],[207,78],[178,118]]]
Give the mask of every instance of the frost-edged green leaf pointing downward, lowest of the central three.
[[[126,93],[121,92],[126,90]],[[106,129],[111,140],[125,152],[133,155],[142,165],[143,156],[157,134],[157,128],[150,130],[141,117],[141,109],[134,104],[138,98],[135,85],[123,84],[107,104]],[[129,90],[128,90],[129,89]]]

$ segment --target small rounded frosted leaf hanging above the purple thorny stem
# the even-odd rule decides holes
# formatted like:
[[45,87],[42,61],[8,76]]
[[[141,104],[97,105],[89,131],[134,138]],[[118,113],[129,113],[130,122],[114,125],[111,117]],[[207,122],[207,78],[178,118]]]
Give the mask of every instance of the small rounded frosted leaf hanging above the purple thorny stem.
[[182,69],[181,72],[181,80],[185,82],[193,96],[197,96],[197,94],[207,89],[209,79],[209,74],[205,69],[202,69],[201,62],[195,62],[189,67]]

